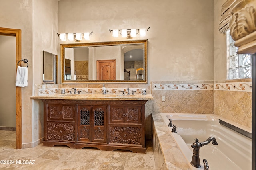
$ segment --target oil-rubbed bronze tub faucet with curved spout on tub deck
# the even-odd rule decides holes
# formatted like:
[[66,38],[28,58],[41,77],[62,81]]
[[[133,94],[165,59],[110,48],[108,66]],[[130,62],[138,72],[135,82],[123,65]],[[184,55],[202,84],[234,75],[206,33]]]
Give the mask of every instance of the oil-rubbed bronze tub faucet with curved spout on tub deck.
[[215,137],[209,137],[208,139],[206,139],[206,141],[204,142],[198,142],[199,140],[196,138],[195,142],[191,145],[191,147],[193,148],[193,156],[192,156],[192,160],[190,162],[190,164],[196,168],[200,168],[200,158],[199,158],[199,149],[201,147],[203,147],[204,145],[209,144],[212,141],[213,145],[218,145]]

